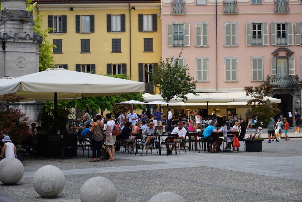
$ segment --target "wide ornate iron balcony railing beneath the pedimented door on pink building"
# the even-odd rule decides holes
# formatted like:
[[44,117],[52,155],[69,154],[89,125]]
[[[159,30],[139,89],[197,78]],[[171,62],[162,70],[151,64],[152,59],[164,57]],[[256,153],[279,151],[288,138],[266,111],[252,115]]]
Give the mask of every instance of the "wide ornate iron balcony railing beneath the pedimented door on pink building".
[[295,76],[287,76],[278,78],[277,76],[271,76],[266,78],[267,82],[274,85],[274,88],[296,88],[299,78]]

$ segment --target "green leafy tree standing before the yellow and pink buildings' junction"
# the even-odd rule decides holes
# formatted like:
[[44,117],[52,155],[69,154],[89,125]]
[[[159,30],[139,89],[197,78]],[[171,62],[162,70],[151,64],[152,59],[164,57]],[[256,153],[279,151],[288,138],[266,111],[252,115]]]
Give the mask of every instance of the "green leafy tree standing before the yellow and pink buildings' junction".
[[152,84],[158,87],[162,98],[169,102],[174,96],[187,100],[187,94],[197,94],[196,80],[188,72],[188,65],[179,65],[179,58],[182,55],[180,51],[178,58],[173,56],[166,58],[165,61],[160,58],[159,66],[153,67],[153,72],[147,72],[152,80]]

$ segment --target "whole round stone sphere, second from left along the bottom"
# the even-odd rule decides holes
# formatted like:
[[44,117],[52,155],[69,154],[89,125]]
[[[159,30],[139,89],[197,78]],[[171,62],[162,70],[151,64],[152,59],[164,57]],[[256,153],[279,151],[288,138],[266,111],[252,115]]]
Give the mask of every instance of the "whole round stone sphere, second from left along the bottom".
[[47,165],[39,168],[34,174],[33,184],[41,196],[55,197],[65,186],[65,176],[59,168]]

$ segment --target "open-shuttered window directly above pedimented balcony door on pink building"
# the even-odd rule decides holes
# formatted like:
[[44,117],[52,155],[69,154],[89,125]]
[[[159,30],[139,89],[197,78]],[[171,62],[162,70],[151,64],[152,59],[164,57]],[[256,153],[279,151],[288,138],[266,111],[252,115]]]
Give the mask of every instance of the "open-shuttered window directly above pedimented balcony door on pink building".
[[271,45],[294,45],[294,23],[271,23]]

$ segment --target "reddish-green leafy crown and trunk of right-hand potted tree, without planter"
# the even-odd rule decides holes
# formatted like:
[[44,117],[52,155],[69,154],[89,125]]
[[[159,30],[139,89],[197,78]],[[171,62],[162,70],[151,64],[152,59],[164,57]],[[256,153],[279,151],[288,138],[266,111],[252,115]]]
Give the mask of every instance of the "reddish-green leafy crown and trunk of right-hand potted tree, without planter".
[[[256,128],[259,126],[267,127],[270,117],[275,117],[276,114],[280,113],[277,103],[271,103],[268,98],[264,99],[265,96],[270,94],[272,87],[272,85],[265,85],[265,83],[256,87],[244,87],[246,95],[251,95],[253,98],[246,103],[246,106],[249,107],[246,114],[249,114],[249,118],[257,119],[257,122],[255,123]],[[255,134],[256,133],[257,130],[255,130]]]

